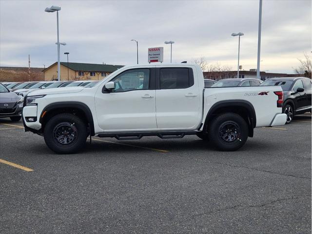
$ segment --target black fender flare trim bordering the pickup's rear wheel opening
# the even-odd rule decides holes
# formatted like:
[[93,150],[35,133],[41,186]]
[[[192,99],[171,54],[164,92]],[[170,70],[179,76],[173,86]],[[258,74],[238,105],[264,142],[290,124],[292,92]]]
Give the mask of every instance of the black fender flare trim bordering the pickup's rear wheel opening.
[[209,119],[214,115],[215,111],[219,108],[224,107],[232,107],[232,106],[238,106],[238,107],[244,107],[247,109],[249,116],[250,116],[250,123],[248,124],[249,127],[249,136],[254,136],[254,128],[256,126],[256,115],[254,111],[254,106],[252,103],[246,100],[240,100],[240,99],[234,99],[234,100],[224,100],[224,101],[218,101],[216,102],[208,111],[205,123],[204,125],[207,126],[207,123]]

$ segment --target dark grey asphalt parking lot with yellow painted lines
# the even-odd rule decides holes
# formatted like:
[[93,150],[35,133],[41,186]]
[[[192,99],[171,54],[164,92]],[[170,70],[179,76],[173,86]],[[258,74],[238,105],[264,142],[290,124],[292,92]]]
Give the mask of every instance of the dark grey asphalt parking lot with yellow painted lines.
[[196,136],[94,137],[56,155],[0,119],[0,233],[311,234],[311,115],[237,152]]

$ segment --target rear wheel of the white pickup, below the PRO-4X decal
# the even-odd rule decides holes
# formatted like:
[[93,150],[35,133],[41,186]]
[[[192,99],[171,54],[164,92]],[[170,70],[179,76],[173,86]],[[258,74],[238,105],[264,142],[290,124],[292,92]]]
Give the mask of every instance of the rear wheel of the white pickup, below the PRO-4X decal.
[[239,115],[225,113],[212,120],[208,137],[217,149],[235,151],[242,147],[248,138],[248,125]]

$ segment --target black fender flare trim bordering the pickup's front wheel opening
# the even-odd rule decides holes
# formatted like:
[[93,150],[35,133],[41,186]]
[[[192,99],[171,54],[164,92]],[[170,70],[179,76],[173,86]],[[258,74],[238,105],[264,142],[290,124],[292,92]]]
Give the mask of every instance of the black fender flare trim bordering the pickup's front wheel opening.
[[59,108],[74,108],[74,109],[79,109],[80,111],[82,111],[85,114],[88,120],[88,123],[90,124],[90,135],[91,136],[95,135],[92,112],[86,104],[79,102],[79,101],[60,101],[60,102],[55,102],[55,103],[51,103],[47,105],[46,107],[43,108],[40,114],[39,123],[41,123],[42,121],[42,114],[44,111],[49,112],[51,110],[59,109]]

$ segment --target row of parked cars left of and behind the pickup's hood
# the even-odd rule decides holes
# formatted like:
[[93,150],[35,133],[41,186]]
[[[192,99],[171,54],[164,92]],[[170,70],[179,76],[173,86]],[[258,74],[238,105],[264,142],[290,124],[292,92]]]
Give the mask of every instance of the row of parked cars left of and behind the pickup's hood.
[[12,121],[19,121],[25,95],[35,90],[63,87],[88,88],[97,83],[98,80],[2,82],[0,83],[0,118],[10,117]]

